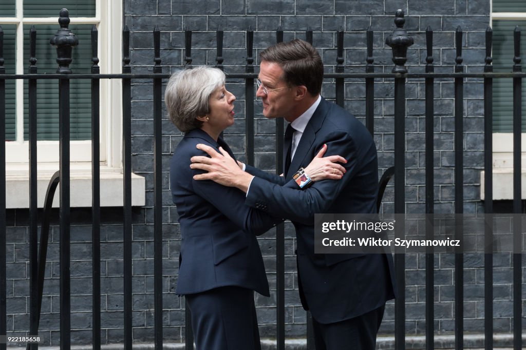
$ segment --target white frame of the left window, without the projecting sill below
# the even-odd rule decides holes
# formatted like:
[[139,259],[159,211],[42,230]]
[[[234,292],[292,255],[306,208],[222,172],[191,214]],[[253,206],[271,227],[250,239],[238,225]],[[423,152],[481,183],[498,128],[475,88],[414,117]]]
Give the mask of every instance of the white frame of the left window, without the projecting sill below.
[[[95,17],[70,17],[70,25],[94,24],[97,27],[98,53],[100,73],[120,73],[121,30],[122,30],[122,2],[112,0],[96,0]],[[15,17],[0,18],[2,24],[16,25],[16,74],[23,74],[27,63],[23,59],[24,25],[51,24],[58,25],[58,11],[56,17],[31,18],[23,16],[23,0],[16,0]],[[38,33],[37,33],[38,34]],[[37,57],[38,59],[38,57]],[[38,67],[38,62],[37,62]],[[29,142],[24,140],[24,81],[16,80],[16,141],[6,142],[6,162],[28,162]],[[100,160],[107,161],[108,166],[120,164],[120,152],[116,145],[120,145],[120,133],[115,129],[122,120],[120,101],[120,81],[118,79],[100,80]],[[111,116],[111,118],[109,117]],[[115,132],[117,131],[117,132]],[[38,162],[58,162],[58,141],[37,141]],[[71,161],[91,161],[91,141],[71,141]]]

